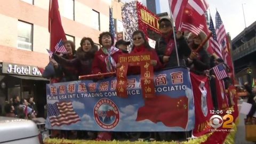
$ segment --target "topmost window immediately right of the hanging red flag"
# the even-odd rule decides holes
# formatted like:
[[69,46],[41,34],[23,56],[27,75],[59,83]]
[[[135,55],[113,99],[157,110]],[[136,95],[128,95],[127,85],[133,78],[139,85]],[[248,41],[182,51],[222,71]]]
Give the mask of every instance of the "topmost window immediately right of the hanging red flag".
[[63,15],[63,17],[70,20],[75,20],[74,0],[63,0],[59,2],[60,13]]

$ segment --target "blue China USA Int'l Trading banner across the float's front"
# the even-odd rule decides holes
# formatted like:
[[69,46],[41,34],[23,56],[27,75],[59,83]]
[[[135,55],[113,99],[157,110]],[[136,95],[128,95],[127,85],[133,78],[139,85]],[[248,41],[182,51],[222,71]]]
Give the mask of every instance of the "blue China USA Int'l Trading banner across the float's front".
[[[155,98],[143,99],[140,75],[127,76],[128,98],[118,97],[115,77],[47,84],[48,129],[87,131],[190,131],[193,92],[186,68],[155,73]],[[50,123],[51,122],[51,123]]]

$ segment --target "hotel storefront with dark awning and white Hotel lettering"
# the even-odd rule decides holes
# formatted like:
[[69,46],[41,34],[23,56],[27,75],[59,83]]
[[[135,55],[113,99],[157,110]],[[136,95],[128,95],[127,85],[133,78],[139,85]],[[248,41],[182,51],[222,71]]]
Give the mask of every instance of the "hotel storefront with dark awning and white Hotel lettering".
[[0,105],[14,96],[27,99],[34,96],[38,117],[43,117],[46,104],[46,84],[48,79],[42,77],[36,66],[0,63]]

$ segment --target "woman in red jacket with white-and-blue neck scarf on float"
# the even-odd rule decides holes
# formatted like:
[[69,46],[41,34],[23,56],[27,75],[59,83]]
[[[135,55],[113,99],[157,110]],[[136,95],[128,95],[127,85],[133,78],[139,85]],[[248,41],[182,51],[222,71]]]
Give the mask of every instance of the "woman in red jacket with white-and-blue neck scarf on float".
[[94,55],[92,74],[114,72],[118,62],[118,55],[123,52],[114,46],[114,38],[109,32],[100,34],[99,43],[102,47]]

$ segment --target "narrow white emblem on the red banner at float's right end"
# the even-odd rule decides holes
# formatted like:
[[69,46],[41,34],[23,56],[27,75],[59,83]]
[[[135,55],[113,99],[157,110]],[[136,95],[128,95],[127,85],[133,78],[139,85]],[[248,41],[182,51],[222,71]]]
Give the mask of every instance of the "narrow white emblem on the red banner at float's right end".
[[202,112],[204,114],[204,116],[207,116],[207,99],[206,99],[206,95],[207,95],[207,90],[205,88],[205,83],[201,82],[201,84],[199,85],[199,90],[201,91],[202,95],[201,95],[201,109]]

